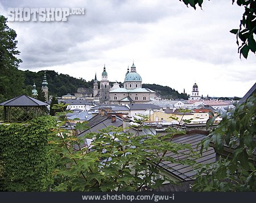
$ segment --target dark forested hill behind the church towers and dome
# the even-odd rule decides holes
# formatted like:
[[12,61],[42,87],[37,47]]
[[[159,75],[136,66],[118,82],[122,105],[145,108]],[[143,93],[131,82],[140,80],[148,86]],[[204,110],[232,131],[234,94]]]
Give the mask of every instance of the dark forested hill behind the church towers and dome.
[[[35,85],[38,89],[42,86],[44,71],[31,72],[31,71],[22,71],[24,75],[24,83],[27,89],[28,94],[31,94],[32,85],[35,82]],[[71,77],[68,74],[57,73],[55,71],[46,71],[47,82],[49,87],[49,94],[53,96],[63,96],[67,93],[75,94],[77,88],[93,88],[93,80],[86,82],[82,78]],[[110,86],[114,82],[110,82]],[[122,86],[122,83],[119,82],[119,85]],[[179,93],[175,89],[172,89],[168,86],[156,85],[156,84],[142,84],[142,88],[148,88],[154,90],[158,96],[167,99],[183,99],[187,100],[187,94]]]

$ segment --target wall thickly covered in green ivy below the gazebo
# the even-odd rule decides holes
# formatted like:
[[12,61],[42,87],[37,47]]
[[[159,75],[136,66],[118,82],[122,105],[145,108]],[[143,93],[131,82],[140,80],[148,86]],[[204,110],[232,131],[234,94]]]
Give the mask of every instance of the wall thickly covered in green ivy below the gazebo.
[[0,191],[48,190],[55,165],[48,135],[55,126],[49,116],[0,125]]

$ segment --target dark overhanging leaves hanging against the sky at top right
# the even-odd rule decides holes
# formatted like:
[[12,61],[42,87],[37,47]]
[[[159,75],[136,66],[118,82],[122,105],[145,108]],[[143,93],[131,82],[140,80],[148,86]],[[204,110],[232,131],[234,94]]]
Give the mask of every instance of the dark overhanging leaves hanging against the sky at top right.
[[[180,0],[185,3],[185,5],[190,5],[194,9],[196,6],[202,7],[203,0]],[[235,0],[232,0],[234,3]],[[256,34],[256,1],[255,0],[237,0],[238,6],[243,6],[245,12],[240,20],[240,26],[238,29],[230,30],[231,33],[235,34],[237,37],[238,53],[247,59],[249,51],[255,53],[256,42],[254,35]]]

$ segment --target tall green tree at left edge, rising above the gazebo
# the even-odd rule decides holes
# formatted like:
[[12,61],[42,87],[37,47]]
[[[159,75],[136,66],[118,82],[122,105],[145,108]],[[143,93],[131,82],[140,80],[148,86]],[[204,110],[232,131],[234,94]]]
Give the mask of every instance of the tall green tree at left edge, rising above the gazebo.
[[18,71],[22,60],[16,57],[20,53],[16,49],[16,32],[6,22],[7,18],[0,15],[0,102],[25,93],[24,77]]

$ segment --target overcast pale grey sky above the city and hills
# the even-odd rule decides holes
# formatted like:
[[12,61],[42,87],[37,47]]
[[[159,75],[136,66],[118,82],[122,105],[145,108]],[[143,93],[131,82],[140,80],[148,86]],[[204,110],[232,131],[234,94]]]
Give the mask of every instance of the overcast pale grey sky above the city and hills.
[[101,79],[104,64],[110,81],[123,82],[134,64],[143,83],[170,86],[203,96],[242,97],[255,83],[256,57],[240,59],[236,36],[243,7],[232,0],[204,1],[203,10],[178,0],[12,1],[9,7],[85,8],[67,22],[9,22],[17,33],[22,70],[54,70]]

